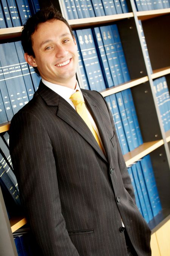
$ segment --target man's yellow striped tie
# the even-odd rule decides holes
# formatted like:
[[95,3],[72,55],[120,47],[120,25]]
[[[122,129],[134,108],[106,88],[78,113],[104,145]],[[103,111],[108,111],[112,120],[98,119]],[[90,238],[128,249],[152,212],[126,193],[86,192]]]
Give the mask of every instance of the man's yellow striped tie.
[[93,133],[94,138],[96,139],[96,141],[99,144],[100,148],[104,152],[102,144],[100,143],[99,137],[98,137],[96,131],[94,130],[93,126],[91,125],[90,119],[88,118],[87,108],[85,106],[85,102],[84,102],[83,96],[80,93],[80,91],[76,91],[76,93],[73,93],[71,95],[70,99],[73,102],[74,107],[76,108],[77,113],[85,121],[85,123],[87,124],[88,128]]

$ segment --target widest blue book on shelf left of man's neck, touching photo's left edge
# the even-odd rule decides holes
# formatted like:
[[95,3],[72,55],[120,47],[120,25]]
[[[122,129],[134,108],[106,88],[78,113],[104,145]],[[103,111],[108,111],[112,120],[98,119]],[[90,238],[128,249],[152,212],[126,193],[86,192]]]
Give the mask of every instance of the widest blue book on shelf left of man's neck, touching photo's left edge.
[[23,80],[14,42],[0,44],[0,51],[3,74],[12,110],[15,114],[20,108],[28,103],[28,94],[26,92],[25,82]]

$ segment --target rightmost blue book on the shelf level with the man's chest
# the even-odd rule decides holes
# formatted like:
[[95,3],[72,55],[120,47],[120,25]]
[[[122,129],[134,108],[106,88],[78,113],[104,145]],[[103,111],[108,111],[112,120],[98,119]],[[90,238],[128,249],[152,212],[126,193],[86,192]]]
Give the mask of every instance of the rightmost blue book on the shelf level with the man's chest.
[[128,98],[128,93],[129,93],[128,90],[130,90],[130,89],[123,90],[123,91],[121,91],[121,93],[122,93],[122,99],[124,102],[124,107],[125,107],[128,124],[129,124],[130,130],[131,130],[131,137],[133,140],[133,145],[134,145],[134,148],[137,148],[137,147],[139,147],[140,144],[139,144],[139,140],[138,140],[136,126],[135,126],[132,112],[131,112],[131,105],[130,105],[130,101]]

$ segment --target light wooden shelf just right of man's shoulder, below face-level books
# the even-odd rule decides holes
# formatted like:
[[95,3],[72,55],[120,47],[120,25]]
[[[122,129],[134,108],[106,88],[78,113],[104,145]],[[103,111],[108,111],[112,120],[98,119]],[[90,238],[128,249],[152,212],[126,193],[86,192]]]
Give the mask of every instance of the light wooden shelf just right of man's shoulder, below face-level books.
[[141,77],[141,78],[138,78],[138,79],[133,79],[133,80],[130,80],[129,82],[122,83],[121,85],[117,85],[117,86],[107,88],[103,91],[100,91],[100,93],[104,97],[106,97],[106,96],[109,96],[111,94],[118,93],[119,91],[123,91],[123,90],[126,90],[128,88],[131,88],[133,86],[140,85],[141,83],[145,83],[147,81],[148,81],[147,76]]

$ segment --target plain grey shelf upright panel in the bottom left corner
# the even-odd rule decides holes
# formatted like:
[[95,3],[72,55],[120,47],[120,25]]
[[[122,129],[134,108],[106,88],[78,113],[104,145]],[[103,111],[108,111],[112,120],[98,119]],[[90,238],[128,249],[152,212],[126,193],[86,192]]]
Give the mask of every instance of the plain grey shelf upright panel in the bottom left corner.
[[[2,191],[0,188],[0,255],[18,256],[15,247],[14,237],[12,236],[9,218],[6,212]],[[3,223],[3,225],[2,225]]]

